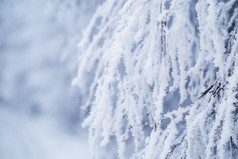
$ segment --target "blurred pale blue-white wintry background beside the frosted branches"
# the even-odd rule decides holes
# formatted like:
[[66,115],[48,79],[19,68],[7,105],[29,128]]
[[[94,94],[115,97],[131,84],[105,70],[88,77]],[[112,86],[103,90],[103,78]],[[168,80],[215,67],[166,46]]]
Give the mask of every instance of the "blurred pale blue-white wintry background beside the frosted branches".
[[87,159],[77,43],[102,0],[0,0],[0,159]]

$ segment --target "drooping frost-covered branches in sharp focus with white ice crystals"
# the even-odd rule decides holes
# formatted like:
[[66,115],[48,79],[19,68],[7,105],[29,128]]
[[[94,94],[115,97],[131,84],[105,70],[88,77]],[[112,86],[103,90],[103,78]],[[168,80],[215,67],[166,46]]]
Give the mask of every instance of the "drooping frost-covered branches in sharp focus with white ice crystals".
[[95,158],[237,158],[237,22],[236,0],[99,6],[73,81]]

